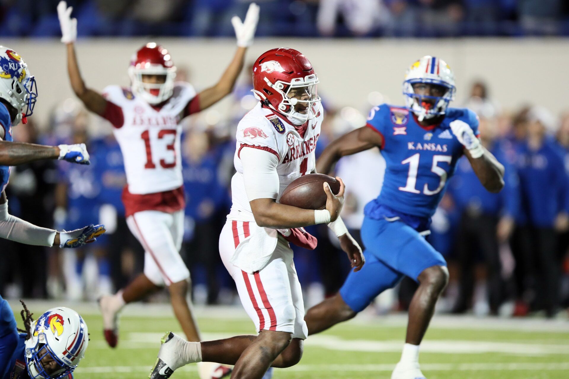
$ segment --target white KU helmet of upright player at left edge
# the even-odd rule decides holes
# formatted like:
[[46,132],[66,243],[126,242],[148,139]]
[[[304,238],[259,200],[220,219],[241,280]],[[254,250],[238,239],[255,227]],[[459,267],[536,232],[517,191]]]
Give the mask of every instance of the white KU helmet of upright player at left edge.
[[34,112],[38,88],[28,65],[14,50],[0,45],[0,99],[4,99],[17,111],[12,120],[16,126]]

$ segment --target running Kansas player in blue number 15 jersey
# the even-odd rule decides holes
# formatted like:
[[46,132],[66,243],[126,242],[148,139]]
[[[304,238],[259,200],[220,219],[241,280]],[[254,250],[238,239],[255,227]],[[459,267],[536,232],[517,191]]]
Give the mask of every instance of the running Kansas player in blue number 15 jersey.
[[403,94],[405,107],[374,107],[365,127],[333,141],[318,160],[318,172],[327,173],[340,157],[377,146],[386,169],[380,195],[364,210],[364,267],[351,272],[340,293],[312,307],[304,319],[308,333],[318,333],[355,316],[403,276],[413,278],[419,288],[409,306],[401,361],[391,378],[421,379],[419,344],[448,282],[446,261],[424,238],[431,216],[461,156],[491,192],[504,186],[504,167],[480,144],[476,115],[448,108],[455,80],[443,60],[425,56],[411,65]]

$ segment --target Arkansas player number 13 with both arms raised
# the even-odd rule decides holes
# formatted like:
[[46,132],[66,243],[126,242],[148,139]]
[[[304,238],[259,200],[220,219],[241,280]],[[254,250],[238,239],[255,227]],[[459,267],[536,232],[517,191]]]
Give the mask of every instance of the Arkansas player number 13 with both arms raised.
[[105,339],[117,344],[117,315],[129,302],[166,285],[172,307],[191,341],[199,341],[186,297],[189,271],[179,249],[184,221],[184,190],[180,156],[180,121],[228,95],[253,43],[259,7],[251,3],[244,22],[234,16],[237,51],[217,84],[200,93],[175,82],[176,67],[166,49],[149,43],[135,53],[129,67],[130,88],[108,86],[103,94],[88,88],[79,72],[74,43],[77,20],[64,1],[57,6],[61,41],[67,45],[67,64],[73,91],[85,107],[109,120],[125,161],[123,191],[127,223],[145,248],[145,269],[125,289],[100,301]]

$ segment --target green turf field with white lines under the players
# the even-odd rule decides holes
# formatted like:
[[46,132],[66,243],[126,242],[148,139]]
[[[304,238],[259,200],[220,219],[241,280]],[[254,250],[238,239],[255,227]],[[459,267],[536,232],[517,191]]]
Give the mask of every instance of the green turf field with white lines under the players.
[[[38,313],[44,310],[37,304],[30,308]],[[76,370],[77,379],[145,378],[161,336],[167,330],[180,330],[174,317],[168,316],[168,305],[156,314],[146,314],[146,307],[135,306],[121,318],[119,346],[111,349],[102,338],[96,309],[77,310],[91,337],[85,359]],[[252,323],[238,307],[198,309],[196,314],[205,339],[253,332]],[[274,378],[389,378],[399,359],[404,333],[405,315],[380,318],[363,314],[311,336],[300,364],[275,370]],[[420,361],[428,379],[569,378],[569,323],[435,315]],[[177,370],[172,378],[197,378],[195,365]]]

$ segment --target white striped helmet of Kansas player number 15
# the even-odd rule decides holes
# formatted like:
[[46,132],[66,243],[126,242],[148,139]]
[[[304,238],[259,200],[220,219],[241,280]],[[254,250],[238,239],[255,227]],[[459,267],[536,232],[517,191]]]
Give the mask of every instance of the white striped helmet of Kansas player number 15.
[[[413,90],[415,83],[439,85],[447,91],[442,96],[419,95]],[[427,55],[407,69],[403,82],[403,94],[407,108],[417,115],[419,120],[443,115],[448,103],[455,99],[455,92],[455,75],[442,59]],[[433,100],[434,105],[432,105]]]

